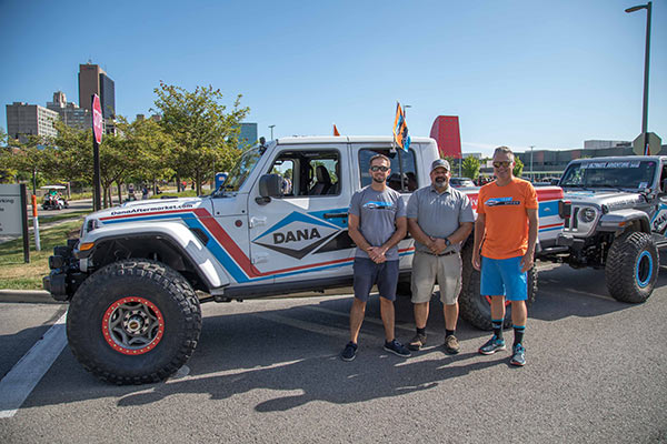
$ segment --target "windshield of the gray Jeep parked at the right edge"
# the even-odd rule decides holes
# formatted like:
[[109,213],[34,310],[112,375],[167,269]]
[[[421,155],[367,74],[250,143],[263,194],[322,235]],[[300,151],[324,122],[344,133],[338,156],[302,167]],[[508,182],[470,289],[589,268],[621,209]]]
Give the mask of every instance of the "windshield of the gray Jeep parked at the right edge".
[[568,167],[560,186],[645,189],[653,185],[654,160],[581,162]]

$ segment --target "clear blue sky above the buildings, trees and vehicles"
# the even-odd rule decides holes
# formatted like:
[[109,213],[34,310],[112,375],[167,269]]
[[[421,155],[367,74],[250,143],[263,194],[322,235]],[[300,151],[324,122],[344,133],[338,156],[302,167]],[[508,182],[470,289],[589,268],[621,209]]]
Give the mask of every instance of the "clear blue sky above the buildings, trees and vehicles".
[[[117,113],[149,113],[160,80],[243,94],[260,135],[412,135],[459,115],[464,152],[580,148],[641,129],[640,0],[0,0],[4,105],[77,102],[79,63],[116,82]],[[653,3],[649,131],[667,141],[667,0]]]

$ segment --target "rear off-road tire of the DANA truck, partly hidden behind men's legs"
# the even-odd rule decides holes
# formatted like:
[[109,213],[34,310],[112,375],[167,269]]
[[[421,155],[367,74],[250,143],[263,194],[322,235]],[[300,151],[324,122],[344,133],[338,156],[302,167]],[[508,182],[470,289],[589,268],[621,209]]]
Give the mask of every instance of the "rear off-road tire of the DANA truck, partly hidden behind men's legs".
[[[466,245],[461,251],[462,260],[462,285],[459,294],[459,315],[469,324],[479,330],[492,330],[491,324],[491,304],[487,296],[479,293],[481,273],[472,268],[472,248]],[[526,304],[530,306],[535,302],[537,294],[537,269],[528,270],[528,300]],[[505,329],[511,326],[511,304],[505,304]]]

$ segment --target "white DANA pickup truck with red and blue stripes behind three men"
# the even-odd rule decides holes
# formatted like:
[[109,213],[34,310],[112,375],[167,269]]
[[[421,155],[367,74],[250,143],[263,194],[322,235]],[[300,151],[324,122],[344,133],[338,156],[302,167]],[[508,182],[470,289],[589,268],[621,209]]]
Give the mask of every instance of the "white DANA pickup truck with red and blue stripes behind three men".
[[[54,249],[44,278],[56,300],[70,302],[67,332],[77,359],[117,384],[159,381],[192,354],[200,302],[350,285],[348,205],[370,183],[377,153],[391,159],[388,185],[406,201],[430,183],[429,167],[439,158],[427,138],[414,138],[407,152],[392,149],[388,137],[286,138],[246,151],[211,195],[90,214],[80,239]],[[477,189],[465,192],[476,208]],[[540,188],[538,198],[539,255],[559,249],[563,191]],[[414,251],[411,239],[400,242],[401,287]],[[469,243],[462,254],[469,258]],[[478,272],[469,259],[465,264],[461,316],[489,327]],[[530,276],[534,299],[537,278]]]

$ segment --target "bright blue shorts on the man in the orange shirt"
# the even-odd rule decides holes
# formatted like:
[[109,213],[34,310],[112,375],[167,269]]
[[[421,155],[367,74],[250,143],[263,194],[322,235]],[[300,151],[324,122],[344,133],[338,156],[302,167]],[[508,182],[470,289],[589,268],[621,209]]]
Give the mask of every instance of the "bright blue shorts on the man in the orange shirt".
[[508,301],[528,299],[527,273],[521,273],[521,258],[489,259],[481,256],[482,296],[505,296]]

